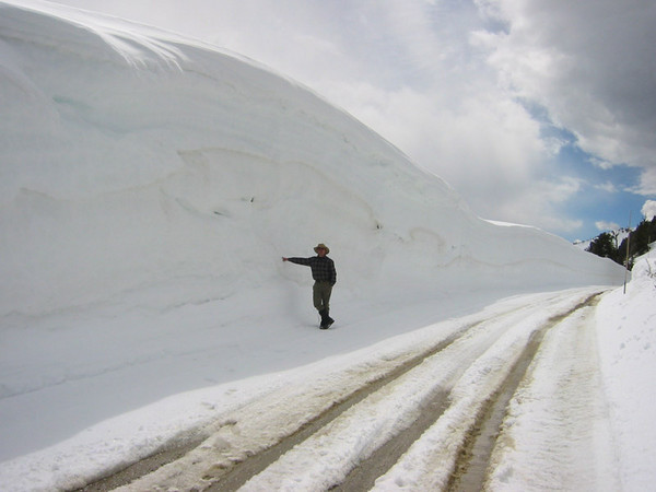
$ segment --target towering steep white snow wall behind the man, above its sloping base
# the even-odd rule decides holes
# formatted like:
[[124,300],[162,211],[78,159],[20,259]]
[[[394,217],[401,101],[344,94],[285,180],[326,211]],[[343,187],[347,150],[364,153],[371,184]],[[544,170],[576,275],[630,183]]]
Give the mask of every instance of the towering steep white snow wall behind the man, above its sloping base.
[[342,292],[380,302],[623,280],[562,238],[477,218],[364,125],[251,61],[30,4],[0,3],[0,315],[153,285],[194,303],[308,283],[280,257],[318,242]]

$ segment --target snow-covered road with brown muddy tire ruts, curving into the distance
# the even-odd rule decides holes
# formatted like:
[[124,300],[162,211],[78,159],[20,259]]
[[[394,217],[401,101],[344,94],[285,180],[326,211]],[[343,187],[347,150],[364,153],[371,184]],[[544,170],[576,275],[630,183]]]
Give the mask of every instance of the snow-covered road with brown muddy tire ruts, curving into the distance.
[[118,490],[616,489],[597,293],[515,297],[291,373]]

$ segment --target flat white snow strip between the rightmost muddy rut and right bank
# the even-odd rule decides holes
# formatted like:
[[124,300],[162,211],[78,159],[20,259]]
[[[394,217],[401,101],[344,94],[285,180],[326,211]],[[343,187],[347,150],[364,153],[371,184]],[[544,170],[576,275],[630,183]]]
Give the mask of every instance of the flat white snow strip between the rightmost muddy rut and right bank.
[[622,489],[599,371],[597,302],[546,335],[508,406],[487,490]]

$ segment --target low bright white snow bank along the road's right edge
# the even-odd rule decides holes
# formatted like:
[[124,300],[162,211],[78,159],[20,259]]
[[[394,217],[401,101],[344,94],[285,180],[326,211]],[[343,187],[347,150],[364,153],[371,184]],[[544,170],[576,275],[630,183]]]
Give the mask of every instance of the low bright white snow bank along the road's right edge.
[[[652,245],[654,246],[654,245]],[[626,293],[597,309],[601,372],[610,402],[624,490],[656,482],[656,250],[639,258]]]

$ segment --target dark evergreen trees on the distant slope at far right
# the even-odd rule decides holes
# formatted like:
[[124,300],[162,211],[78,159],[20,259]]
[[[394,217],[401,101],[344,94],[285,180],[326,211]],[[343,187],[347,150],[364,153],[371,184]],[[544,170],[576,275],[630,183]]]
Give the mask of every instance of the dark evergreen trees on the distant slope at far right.
[[629,269],[633,268],[635,257],[649,250],[649,244],[656,241],[656,215],[647,221],[643,220],[634,231],[629,233],[618,245],[618,232],[604,232],[595,237],[586,251],[624,265],[626,261],[626,247],[629,247]]

